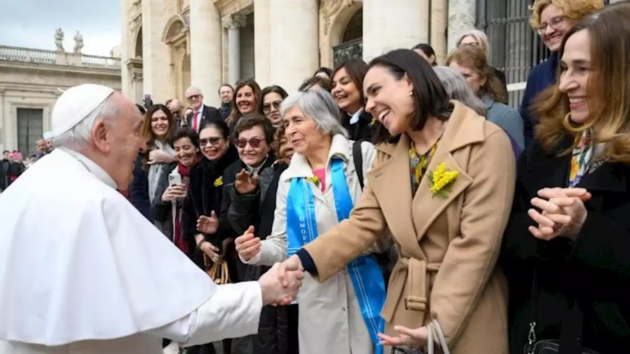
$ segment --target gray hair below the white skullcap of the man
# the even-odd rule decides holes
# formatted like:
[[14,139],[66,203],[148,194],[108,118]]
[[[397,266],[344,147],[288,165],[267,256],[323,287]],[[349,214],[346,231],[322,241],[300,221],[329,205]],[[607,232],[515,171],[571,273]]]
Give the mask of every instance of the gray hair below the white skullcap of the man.
[[111,120],[116,117],[118,113],[118,105],[115,100],[112,100],[112,96],[109,96],[70,130],[57,137],[53,137],[52,146],[79,150],[89,144],[92,141],[92,129],[96,122]]

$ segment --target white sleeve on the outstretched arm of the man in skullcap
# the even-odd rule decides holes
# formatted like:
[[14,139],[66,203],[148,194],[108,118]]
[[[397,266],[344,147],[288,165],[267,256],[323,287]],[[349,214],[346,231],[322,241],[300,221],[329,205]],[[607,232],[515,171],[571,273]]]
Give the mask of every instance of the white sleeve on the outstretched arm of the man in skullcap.
[[256,334],[262,296],[258,282],[219,285],[214,295],[197,310],[147,333],[183,343],[183,346]]

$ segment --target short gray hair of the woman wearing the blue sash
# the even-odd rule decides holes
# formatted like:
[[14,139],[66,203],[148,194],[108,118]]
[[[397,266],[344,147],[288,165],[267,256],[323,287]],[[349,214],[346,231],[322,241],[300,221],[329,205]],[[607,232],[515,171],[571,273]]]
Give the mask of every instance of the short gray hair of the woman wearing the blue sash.
[[323,89],[297,91],[282,101],[280,115],[285,116],[287,110],[299,107],[302,113],[315,121],[318,130],[330,135],[341,134],[346,139],[350,137],[348,130],[341,125],[340,111],[333,95]]

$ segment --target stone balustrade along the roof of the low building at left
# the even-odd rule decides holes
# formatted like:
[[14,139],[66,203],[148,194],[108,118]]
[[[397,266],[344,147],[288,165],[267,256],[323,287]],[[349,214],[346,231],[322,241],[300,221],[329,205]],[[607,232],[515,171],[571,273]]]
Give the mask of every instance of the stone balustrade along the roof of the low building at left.
[[120,58],[0,45],[0,60],[120,70]]

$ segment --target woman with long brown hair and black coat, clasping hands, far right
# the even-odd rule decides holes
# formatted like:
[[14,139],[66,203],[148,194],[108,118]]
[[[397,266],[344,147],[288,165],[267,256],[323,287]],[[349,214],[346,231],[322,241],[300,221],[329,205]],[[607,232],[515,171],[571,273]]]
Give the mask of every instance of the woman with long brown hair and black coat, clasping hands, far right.
[[567,31],[537,99],[501,254],[512,354],[630,351],[628,18],[624,1]]

